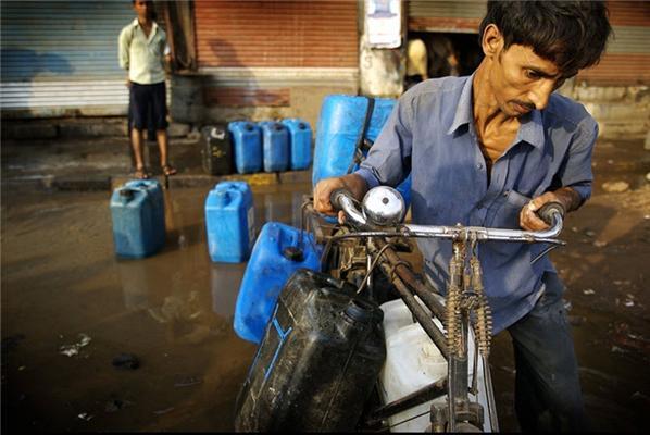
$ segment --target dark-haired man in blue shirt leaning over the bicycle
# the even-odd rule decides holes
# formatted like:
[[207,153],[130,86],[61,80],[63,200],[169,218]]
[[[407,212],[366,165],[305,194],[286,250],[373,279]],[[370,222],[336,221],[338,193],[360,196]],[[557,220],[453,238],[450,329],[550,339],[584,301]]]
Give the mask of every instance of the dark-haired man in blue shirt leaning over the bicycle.
[[[602,2],[489,1],[479,29],[485,58],[475,73],[407,91],[360,170],[315,186],[315,209],[334,213],[334,189],[361,199],[411,173],[417,224],[547,228],[535,214],[542,204],[559,201],[573,211],[589,198],[598,136],[580,104],[552,92],[599,61],[610,32]],[[449,245],[420,241],[427,277],[442,290]],[[541,249],[480,246],[493,333],[508,330],[513,340],[522,428],[582,430],[564,288],[547,257],[530,264]]]

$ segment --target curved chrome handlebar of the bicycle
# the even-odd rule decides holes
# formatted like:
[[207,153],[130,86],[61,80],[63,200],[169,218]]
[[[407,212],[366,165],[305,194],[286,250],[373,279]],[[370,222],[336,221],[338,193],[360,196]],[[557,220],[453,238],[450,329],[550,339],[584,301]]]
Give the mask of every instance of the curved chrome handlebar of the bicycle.
[[[329,196],[329,202],[335,210],[342,210],[348,222],[358,229],[373,229],[374,236],[396,236],[396,232],[377,231],[368,223],[366,216],[358,209],[355,200],[346,189],[336,189]],[[564,245],[557,237],[562,232],[564,207],[559,202],[547,202],[536,212],[550,228],[530,232],[525,229],[487,228],[480,226],[440,226],[440,225],[400,225],[400,235],[404,237],[429,237],[449,239],[475,238],[479,241],[520,241],[520,243],[549,243]]]

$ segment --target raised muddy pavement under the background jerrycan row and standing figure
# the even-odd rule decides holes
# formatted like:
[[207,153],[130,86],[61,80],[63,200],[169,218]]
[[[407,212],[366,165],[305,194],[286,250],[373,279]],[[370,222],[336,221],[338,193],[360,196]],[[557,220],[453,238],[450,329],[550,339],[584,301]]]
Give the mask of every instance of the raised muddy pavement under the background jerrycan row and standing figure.
[[[134,172],[129,140],[124,136],[3,139],[1,156],[3,190],[112,190],[132,179]],[[164,184],[155,142],[147,142],[145,161],[152,178]],[[311,170],[210,175],[201,166],[200,139],[189,137],[171,139],[170,161],[178,170],[168,177],[171,188],[211,187],[224,179],[253,186],[311,181]]]

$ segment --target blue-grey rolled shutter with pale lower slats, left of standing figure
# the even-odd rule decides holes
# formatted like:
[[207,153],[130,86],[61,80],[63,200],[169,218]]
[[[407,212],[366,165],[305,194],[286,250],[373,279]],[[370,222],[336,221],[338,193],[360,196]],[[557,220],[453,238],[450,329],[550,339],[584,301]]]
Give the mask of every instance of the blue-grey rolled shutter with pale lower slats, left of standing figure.
[[2,2],[2,110],[125,113],[117,37],[133,18],[126,1]]

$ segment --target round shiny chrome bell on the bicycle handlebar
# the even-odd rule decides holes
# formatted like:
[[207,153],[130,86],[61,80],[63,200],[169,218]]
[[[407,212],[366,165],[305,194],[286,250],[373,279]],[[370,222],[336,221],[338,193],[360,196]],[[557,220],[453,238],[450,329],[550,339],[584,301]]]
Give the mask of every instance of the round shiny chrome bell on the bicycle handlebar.
[[377,226],[392,226],[402,222],[407,206],[401,194],[388,186],[372,188],[363,198],[363,215]]

